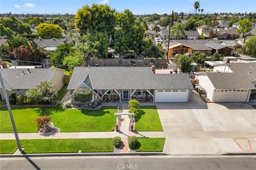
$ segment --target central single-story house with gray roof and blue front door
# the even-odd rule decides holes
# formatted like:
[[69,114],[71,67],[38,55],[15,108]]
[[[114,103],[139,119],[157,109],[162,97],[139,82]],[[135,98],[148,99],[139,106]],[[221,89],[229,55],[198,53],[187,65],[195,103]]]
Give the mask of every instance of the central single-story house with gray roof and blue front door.
[[[153,67],[152,67],[153,68]],[[153,70],[153,69],[152,69]],[[151,98],[154,102],[189,102],[188,74],[155,74],[150,67],[75,67],[67,90],[87,88],[101,98]],[[74,102],[73,97],[70,99]]]

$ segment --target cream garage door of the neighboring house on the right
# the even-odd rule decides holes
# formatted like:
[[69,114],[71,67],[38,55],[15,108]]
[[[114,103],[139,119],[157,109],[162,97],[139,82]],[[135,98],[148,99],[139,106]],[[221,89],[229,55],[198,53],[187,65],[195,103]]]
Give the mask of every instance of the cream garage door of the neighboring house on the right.
[[249,90],[217,90],[214,102],[246,102]]

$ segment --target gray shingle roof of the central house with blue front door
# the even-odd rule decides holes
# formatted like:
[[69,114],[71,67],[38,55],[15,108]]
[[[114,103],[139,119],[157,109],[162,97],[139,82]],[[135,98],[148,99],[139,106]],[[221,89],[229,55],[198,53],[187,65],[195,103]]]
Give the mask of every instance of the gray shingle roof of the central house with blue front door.
[[87,75],[95,90],[193,89],[188,74],[154,74],[150,67],[75,67],[67,89],[76,89]]

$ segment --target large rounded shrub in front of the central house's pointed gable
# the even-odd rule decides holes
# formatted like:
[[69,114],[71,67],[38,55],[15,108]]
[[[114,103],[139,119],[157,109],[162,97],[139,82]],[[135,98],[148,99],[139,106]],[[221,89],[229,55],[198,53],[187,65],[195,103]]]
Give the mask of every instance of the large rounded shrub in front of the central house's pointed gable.
[[90,89],[78,88],[74,90],[73,96],[75,101],[83,102],[92,100],[92,91]]

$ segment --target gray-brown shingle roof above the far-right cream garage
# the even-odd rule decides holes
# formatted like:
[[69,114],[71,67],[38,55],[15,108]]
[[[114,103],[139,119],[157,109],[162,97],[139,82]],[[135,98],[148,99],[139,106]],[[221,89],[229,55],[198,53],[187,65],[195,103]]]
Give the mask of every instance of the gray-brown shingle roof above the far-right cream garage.
[[256,89],[250,75],[238,73],[206,72],[215,89]]

